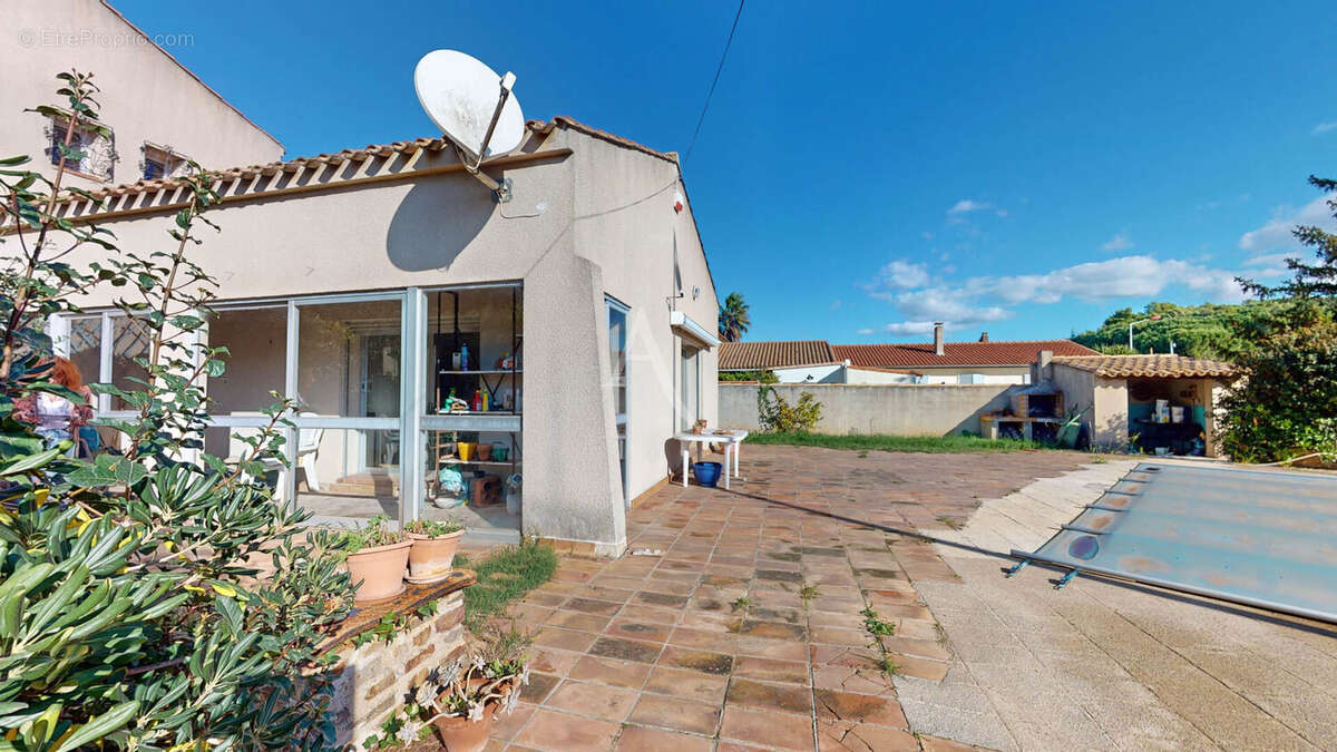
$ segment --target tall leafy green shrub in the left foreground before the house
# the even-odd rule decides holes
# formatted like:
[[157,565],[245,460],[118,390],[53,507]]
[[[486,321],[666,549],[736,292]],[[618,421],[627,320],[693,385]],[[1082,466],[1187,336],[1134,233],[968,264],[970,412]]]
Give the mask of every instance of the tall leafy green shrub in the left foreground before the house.
[[[267,409],[241,460],[202,455],[202,376],[225,372],[225,348],[190,345],[214,281],[190,258],[214,178],[191,165],[162,249],[119,249],[91,223],[63,218],[74,199],[70,134],[102,128],[91,75],[60,74],[70,122],[56,174],[0,159],[0,748],[310,749],[333,743],[329,678],[316,646],[352,607],[349,575],[310,516],[275,503],[262,480],[282,460],[293,405]],[[217,229],[217,227],[215,227]],[[103,261],[72,264],[83,254]],[[111,286],[150,344],[135,388],[96,384],[134,420],[100,420],[124,451],[88,462],[47,446],[17,408],[52,393],[51,316]],[[259,575],[258,563],[269,573]]]

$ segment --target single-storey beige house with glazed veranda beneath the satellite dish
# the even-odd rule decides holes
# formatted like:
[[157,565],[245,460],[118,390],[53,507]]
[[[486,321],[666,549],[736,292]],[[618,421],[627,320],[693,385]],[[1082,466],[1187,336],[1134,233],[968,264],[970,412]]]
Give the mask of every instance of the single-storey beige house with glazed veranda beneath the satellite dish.
[[[45,70],[28,75],[51,83]],[[110,103],[143,92],[98,80],[122,134]],[[191,76],[175,86],[206,91]],[[215,118],[239,122],[230,108],[197,116],[210,132]],[[44,139],[36,128],[7,149]],[[305,404],[278,491],[318,522],[463,518],[499,539],[619,554],[632,499],[679,470],[671,436],[717,416],[718,301],[677,155],[570,118],[529,122],[517,149],[483,163],[511,181],[504,203],[440,138],[242,163],[218,173],[209,218],[222,231],[195,257],[219,285],[198,344],[230,351],[206,383],[206,451],[234,454],[275,391]],[[185,189],[159,177],[104,181],[92,195],[64,217],[147,252],[170,241]],[[88,380],[126,387],[146,343],[112,302],[98,290],[51,332]],[[452,409],[452,393],[467,407]],[[111,396],[98,407],[130,415]],[[519,514],[452,506],[456,482]]]

